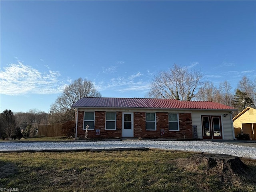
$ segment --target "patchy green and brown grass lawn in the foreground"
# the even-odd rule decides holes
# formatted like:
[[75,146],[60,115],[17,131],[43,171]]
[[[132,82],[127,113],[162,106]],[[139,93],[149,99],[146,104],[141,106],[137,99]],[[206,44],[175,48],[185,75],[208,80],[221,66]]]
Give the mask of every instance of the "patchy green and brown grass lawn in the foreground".
[[[222,182],[219,173],[181,166],[193,153],[160,150],[1,153],[1,188],[21,192],[226,192],[256,189],[250,174]],[[189,164],[189,162],[188,162]]]

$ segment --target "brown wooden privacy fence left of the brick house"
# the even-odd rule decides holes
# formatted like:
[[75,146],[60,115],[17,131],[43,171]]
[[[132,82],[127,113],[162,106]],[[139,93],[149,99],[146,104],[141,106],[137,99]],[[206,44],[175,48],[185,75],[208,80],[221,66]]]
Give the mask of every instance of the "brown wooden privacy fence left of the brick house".
[[57,136],[65,136],[61,132],[62,123],[56,123],[53,125],[38,125],[38,136],[46,136],[46,137],[57,137]]

